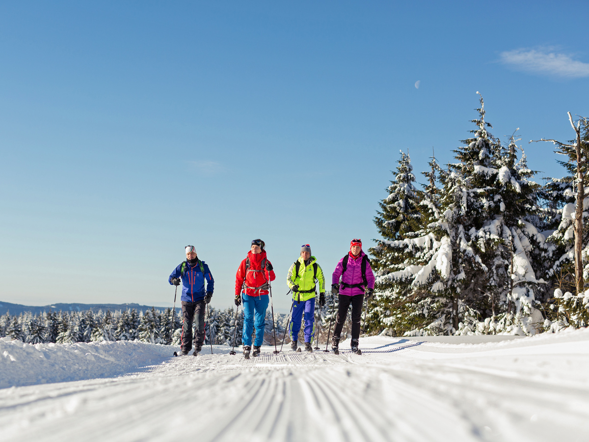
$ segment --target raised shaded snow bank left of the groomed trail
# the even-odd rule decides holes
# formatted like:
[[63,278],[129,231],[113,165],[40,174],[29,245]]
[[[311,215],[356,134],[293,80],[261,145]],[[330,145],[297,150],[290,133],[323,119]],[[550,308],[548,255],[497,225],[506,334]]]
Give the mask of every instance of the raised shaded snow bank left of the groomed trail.
[[140,341],[25,344],[0,339],[0,388],[115,377],[160,364],[173,348]]

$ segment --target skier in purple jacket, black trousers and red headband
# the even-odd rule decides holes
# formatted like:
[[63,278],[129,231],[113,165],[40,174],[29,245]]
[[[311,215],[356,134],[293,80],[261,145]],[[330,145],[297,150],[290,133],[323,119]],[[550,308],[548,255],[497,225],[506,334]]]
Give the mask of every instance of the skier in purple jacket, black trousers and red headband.
[[[341,283],[340,277],[342,278]],[[352,342],[350,347],[354,353],[358,353],[362,304],[365,294],[366,299],[372,298],[374,282],[370,260],[362,251],[362,240],[352,239],[350,251],[339,260],[332,275],[332,293],[339,295],[339,308],[337,309],[332,341],[332,349],[336,354],[339,353],[339,339],[350,304],[352,304]]]

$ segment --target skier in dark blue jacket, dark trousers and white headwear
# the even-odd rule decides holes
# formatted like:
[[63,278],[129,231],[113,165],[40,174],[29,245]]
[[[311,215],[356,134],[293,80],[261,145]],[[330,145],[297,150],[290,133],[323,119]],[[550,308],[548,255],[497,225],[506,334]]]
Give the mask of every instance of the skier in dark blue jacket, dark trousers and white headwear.
[[[206,291],[204,280],[207,280]],[[192,323],[196,316],[194,332],[194,353],[196,356],[203,348],[205,304],[211,302],[214,279],[204,261],[198,260],[194,246],[186,246],[186,261],[177,266],[168,279],[172,285],[182,282],[182,338],[180,348],[187,355],[192,348]]]

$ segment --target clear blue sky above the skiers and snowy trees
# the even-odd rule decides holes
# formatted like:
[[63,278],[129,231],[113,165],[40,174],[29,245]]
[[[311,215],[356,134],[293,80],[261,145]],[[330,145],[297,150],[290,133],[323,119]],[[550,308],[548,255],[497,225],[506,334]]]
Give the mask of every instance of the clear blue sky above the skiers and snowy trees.
[[[418,182],[477,91],[532,169],[589,116],[586,1],[0,2],[0,301],[171,305],[195,245],[232,305],[252,239],[330,275],[408,150]],[[419,81],[419,84],[416,82]],[[417,85],[419,87],[417,87]]]

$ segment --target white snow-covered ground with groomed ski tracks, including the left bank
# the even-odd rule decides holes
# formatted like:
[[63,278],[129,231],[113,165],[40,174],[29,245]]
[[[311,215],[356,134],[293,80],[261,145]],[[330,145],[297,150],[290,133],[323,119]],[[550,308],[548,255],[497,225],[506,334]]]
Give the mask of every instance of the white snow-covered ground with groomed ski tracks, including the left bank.
[[589,330],[498,339],[370,337],[362,355],[245,361],[2,338],[0,440],[589,441]]

